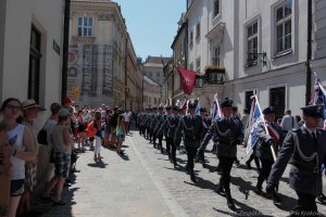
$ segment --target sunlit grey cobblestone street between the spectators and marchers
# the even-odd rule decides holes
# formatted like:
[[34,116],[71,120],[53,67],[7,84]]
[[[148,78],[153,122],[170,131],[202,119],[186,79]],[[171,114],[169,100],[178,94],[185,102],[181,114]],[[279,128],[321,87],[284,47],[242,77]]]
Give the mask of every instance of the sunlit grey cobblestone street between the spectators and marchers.
[[[124,150],[126,155],[121,157],[114,151],[102,149],[104,158],[101,163],[93,162],[90,151],[79,154],[77,167],[80,173],[72,177],[72,187],[63,193],[67,205],[54,207],[45,203],[38,208],[47,212],[45,216],[206,217],[287,216],[296,206],[297,195],[287,184],[288,171],[279,184],[284,200],[281,207],[253,192],[258,174],[246,168],[246,149],[242,146],[238,148],[241,165],[231,170],[236,212],[228,209],[225,197],[214,191],[220,176],[215,171],[217,159],[212,153],[205,154],[208,168],[196,164],[198,183],[193,184],[184,171],[186,154],[177,155],[178,167],[174,169],[167,155],[153,149],[137,131],[126,138]],[[326,206],[318,204],[318,210],[326,214]]]

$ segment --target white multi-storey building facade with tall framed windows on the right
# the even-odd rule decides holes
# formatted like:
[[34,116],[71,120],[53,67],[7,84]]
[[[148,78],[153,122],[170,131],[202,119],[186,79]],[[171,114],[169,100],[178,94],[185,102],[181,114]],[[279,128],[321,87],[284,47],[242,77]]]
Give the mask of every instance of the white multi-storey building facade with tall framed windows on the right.
[[[325,2],[312,1],[312,56],[310,65],[322,82],[325,71]],[[305,105],[309,1],[192,0],[188,1],[188,64],[198,73],[215,69],[209,78],[218,84],[196,88],[193,97],[218,92],[240,111],[250,107],[255,92],[262,107],[275,106],[301,114]],[[198,33],[199,31],[199,33]],[[323,42],[324,41],[324,42]],[[224,73],[223,73],[224,71]],[[312,82],[309,85],[312,94]],[[310,95],[312,97],[312,95]],[[210,97],[212,99],[212,97]],[[205,103],[205,99],[200,99]]]

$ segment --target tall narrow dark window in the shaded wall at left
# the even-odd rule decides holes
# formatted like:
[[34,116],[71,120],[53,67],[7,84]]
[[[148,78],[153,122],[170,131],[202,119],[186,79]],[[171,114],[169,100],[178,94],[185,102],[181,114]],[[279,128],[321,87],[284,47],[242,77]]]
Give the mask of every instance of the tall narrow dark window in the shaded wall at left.
[[32,26],[30,48],[29,48],[29,68],[28,68],[28,99],[39,102],[39,68],[40,68],[40,43],[41,35]]

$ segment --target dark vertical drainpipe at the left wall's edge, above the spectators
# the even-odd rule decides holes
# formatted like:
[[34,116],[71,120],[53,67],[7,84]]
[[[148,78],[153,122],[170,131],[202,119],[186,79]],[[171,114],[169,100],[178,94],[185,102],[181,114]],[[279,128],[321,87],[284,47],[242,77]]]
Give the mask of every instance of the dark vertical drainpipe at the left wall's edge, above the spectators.
[[70,17],[71,15],[71,0],[64,2],[64,24],[63,24],[63,60],[62,60],[62,82],[61,82],[61,98],[66,97],[67,93],[67,58],[70,51]]

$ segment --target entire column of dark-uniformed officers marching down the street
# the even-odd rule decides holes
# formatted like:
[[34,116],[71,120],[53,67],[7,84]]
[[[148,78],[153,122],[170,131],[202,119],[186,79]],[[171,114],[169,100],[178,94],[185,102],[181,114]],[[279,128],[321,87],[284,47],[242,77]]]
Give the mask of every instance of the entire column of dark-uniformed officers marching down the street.
[[[139,133],[154,149],[168,156],[174,168],[180,166],[176,150],[186,152],[185,171],[195,184],[195,163],[206,167],[204,151],[212,140],[213,153],[220,162],[217,173],[221,178],[216,192],[226,197],[230,209],[235,209],[230,174],[234,163],[238,164],[237,146],[246,145],[246,129],[231,100],[226,98],[220,105],[223,115],[217,118],[209,116],[205,107],[200,107],[199,114],[197,103],[189,103],[187,112],[178,106],[146,108],[137,115],[137,126]],[[315,201],[323,195],[322,165],[326,163],[326,131],[319,128],[324,108],[323,105],[309,105],[301,110],[302,126],[285,132],[275,123],[274,107],[264,108],[264,122],[258,125],[256,144],[250,161],[254,158],[259,166],[255,193],[269,197],[275,205],[281,203],[277,193],[281,191],[278,189],[279,179],[288,163],[291,164],[289,184],[298,194],[298,205],[290,216],[318,216]],[[166,149],[163,149],[163,137]],[[251,168],[250,161],[246,163],[248,168]],[[266,191],[263,191],[263,182],[266,182]],[[325,202],[325,197],[318,200]]]

